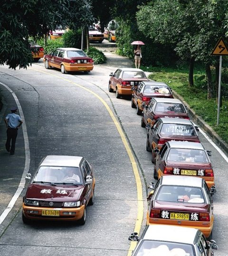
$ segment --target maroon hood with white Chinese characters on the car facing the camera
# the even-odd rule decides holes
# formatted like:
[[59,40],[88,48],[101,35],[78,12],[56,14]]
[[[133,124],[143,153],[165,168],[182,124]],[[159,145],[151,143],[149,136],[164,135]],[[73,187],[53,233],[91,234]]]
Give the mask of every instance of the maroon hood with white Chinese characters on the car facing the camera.
[[25,197],[33,200],[79,201],[84,186],[29,184]]

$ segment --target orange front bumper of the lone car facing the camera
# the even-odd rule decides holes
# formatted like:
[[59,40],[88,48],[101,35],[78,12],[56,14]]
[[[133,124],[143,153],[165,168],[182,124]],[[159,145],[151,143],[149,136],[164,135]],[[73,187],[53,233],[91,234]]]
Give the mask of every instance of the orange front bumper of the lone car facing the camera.
[[[23,215],[28,219],[33,220],[67,220],[75,221],[82,218],[84,214],[85,205],[82,205],[77,208],[47,208],[47,207],[33,207],[27,206],[23,203],[22,212]],[[42,215],[42,210],[57,210],[59,211],[59,216],[46,216]],[[33,213],[31,211],[38,211],[38,213]],[[75,214],[63,214],[63,213],[75,213]]]

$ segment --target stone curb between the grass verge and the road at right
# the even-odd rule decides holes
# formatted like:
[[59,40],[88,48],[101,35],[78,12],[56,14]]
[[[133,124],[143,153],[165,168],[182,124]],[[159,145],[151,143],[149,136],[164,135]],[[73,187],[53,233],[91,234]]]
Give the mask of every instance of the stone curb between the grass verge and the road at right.
[[206,133],[209,134],[209,136],[219,145],[219,147],[221,149],[223,149],[227,154],[228,154],[228,143],[224,142],[219,136],[218,134],[206,123],[203,121],[203,119],[197,115],[189,106],[189,104],[187,102],[184,101],[184,99],[177,94],[175,91],[172,90],[172,94],[173,96],[175,96],[175,98],[177,98],[178,100],[180,100],[181,102],[183,102],[187,108],[188,108],[188,112],[190,113],[190,115],[192,116],[192,118],[200,124],[200,126],[205,130]]

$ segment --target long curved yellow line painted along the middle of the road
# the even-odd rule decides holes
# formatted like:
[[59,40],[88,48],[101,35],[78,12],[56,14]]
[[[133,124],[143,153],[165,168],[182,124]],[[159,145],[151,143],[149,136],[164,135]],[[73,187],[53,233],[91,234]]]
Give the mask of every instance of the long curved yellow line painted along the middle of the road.
[[[63,77],[60,77],[60,76],[57,76],[57,75],[54,75],[54,74],[50,74],[50,73],[47,73],[47,72],[44,72],[44,71],[40,71],[40,70],[37,70],[37,69],[33,69],[33,68],[29,68],[29,69],[34,70],[34,71],[38,71],[38,72],[42,72],[42,73],[45,73],[45,74],[48,74],[48,75],[51,75],[51,76],[55,76],[57,78],[65,80],[66,82],[70,82],[70,83],[72,83],[72,84],[82,88],[83,90],[92,93],[97,99],[99,99],[103,103],[103,105],[107,109],[108,113],[110,114],[110,116],[111,116],[111,118],[112,118],[112,120],[113,120],[113,122],[114,122],[114,124],[116,126],[116,129],[117,129],[118,133],[121,136],[121,139],[123,141],[123,145],[124,145],[124,147],[125,147],[125,149],[127,151],[127,154],[129,156],[131,164],[132,164],[133,174],[134,174],[134,178],[135,178],[135,181],[136,181],[137,200],[138,200],[138,212],[137,212],[137,220],[135,222],[134,232],[137,232],[139,234],[140,229],[141,229],[141,225],[142,225],[142,219],[143,219],[142,182],[141,182],[141,179],[140,179],[140,175],[139,175],[139,170],[137,168],[137,164],[136,164],[136,162],[134,160],[134,156],[133,156],[132,150],[131,150],[129,144],[127,143],[127,140],[126,140],[126,137],[125,137],[125,135],[123,133],[123,130],[122,130],[119,122],[115,118],[112,110],[110,109],[108,104],[97,93],[95,93],[95,92],[85,88],[84,86],[82,86],[80,84],[77,84],[76,82],[72,82],[72,81],[70,81],[70,80],[68,80],[66,78],[63,78]],[[132,250],[134,249],[135,246],[136,246],[136,242],[131,242],[127,256],[131,255]]]

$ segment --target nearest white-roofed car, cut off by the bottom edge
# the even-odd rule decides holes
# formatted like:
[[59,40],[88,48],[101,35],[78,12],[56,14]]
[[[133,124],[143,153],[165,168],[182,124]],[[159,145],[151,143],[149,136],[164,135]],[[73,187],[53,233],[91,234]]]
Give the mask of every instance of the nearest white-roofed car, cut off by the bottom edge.
[[132,256],[213,256],[218,249],[200,230],[174,225],[148,225],[142,236],[132,233],[128,240],[137,241]]

